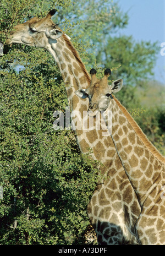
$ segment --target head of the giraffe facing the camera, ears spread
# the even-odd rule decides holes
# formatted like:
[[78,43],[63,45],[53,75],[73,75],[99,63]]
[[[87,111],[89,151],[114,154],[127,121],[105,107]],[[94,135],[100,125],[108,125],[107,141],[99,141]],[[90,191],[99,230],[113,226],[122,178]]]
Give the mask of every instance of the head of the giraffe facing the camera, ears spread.
[[96,116],[98,111],[107,110],[111,100],[113,100],[112,93],[122,89],[123,80],[119,79],[108,85],[108,77],[111,75],[111,69],[109,68],[105,70],[105,75],[101,80],[97,79],[94,68],[90,70],[90,74],[91,84],[89,88],[79,89],[75,91],[75,94],[82,99],[89,98],[89,115]]

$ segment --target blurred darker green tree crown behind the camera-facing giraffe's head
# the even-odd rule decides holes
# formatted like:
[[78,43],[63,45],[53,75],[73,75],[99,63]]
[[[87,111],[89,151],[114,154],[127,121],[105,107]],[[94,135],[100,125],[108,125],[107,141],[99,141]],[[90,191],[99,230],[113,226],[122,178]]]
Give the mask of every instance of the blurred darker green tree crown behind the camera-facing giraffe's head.
[[97,63],[107,67],[122,64],[114,79],[121,77],[125,85],[137,85],[153,74],[157,51],[157,43],[135,42],[132,36],[109,36],[107,44],[97,55]]

